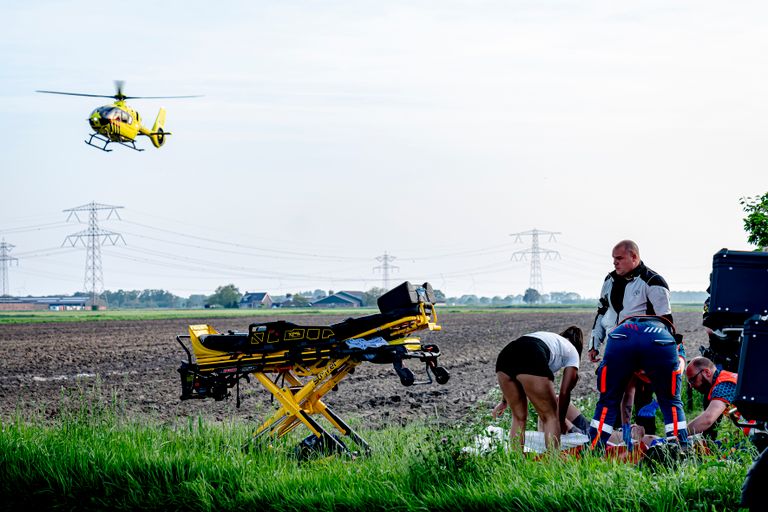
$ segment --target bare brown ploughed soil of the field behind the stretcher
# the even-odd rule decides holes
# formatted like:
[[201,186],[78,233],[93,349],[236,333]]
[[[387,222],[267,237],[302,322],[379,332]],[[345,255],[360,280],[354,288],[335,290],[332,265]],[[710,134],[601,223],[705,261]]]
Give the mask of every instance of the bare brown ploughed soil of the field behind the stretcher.
[[[689,358],[699,354],[706,334],[700,313],[676,313],[678,331],[686,340]],[[318,325],[342,320],[340,316],[292,317],[295,323]],[[267,321],[254,317],[253,321]],[[499,350],[510,340],[537,330],[559,332],[578,325],[588,332],[592,313],[488,313],[440,316],[442,331],[421,333],[422,341],[437,344],[440,364],[451,372],[446,385],[403,387],[391,365],[363,363],[343,380],[326,403],[342,417],[362,417],[367,426],[403,423],[416,418],[453,422],[483,405],[496,386],[494,363]],[[133,322],[86,322],[4,325],[0,327],[0,418],[15,411],[43,411],[55,417],[62,397],[117,398],[135,417],[174,421],[187,416],[213,420],[231,417],[259,420],[274,407],[270,395],[255,381],[243,383],[243,403],[235,408],[227,401],[179,400],[176,369],[185,357],[176,335],[186,334],[195,320]],[[211,319],[217,330],[243,331],[244,319]],[[421,363],[406,362],[417,380],[424,377]],[[577,396],[594,391],[595,365],[582,359]],[[589,416],[589,414],[587,414]]]

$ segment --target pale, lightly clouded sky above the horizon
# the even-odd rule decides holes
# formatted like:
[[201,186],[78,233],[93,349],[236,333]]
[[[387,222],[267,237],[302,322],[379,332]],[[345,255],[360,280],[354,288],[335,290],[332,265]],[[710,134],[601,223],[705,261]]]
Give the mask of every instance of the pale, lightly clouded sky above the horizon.
[[[712,1],[2,2],[0,239],[13,295],[272,295],[431,282],[596,297],[638,243],[672,290],[751,250],[768,192],[768,4]],[[87,117],[131,96],[167,143],[104,153]],[[556,251],[556,252],[555,252]],[[527,253],[526,253],[527,252]],[[389,281],[383,272],[390,260]],[[377,260],[377,258],[379,258]]]

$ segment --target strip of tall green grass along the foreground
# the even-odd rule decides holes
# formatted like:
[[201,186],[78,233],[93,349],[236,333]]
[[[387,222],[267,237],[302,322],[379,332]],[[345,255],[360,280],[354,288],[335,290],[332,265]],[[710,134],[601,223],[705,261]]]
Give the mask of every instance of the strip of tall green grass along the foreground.
[[0,423],[0,508],[723,510],[738,503],[750,463],[744,451],[656,472],[591,454],[468,455],[461,448],[487,424],[480,408],[476,422],[453,427],[369,430],[355,421],[370,456],[303,462],[298,434],[246,451],[245,423],[132,419],[88,396],[63,399],[62,411]]

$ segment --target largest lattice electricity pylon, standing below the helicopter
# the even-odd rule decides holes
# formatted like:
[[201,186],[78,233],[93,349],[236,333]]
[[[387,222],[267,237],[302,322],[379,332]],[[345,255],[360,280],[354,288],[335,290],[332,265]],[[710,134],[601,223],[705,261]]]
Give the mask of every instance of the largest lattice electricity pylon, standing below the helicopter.
[[88,204],[64,210],[65,212],[69,212],[67,220],[75,217],[78,222],[82,221],[77,215],[77,212],[88,212],[88,229],[67,236],[61,246],[64,247],[69,244],[72,247],[75,247],[78,243],[82,243],[85,247],[85,281],[83,287],[85,291],[90,292],[91,306],[96,306],[98,304],[97,299],[101,295],[101,292],[104,291],[104,272],[101,268],[101,246],[105,244],[117,245],[120,241],[125,243],[125,239],[123,239],[123,235],[120,233],[107,231],[99,227],[98,211],[109,210],[107,220],[109,220],[113,213],[120,219],[120,215],[117,213],[118,208],[122,208],[122,206],[110,206],[91,201]]

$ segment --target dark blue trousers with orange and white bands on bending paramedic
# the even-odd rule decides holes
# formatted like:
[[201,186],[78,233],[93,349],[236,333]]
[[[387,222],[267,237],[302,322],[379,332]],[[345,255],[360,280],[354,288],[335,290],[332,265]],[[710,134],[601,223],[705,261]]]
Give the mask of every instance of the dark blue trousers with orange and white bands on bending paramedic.
[[658,317],[630,317],[608,335],[605,353],[597,368],[600,399],[589,426],[592,447],[608,441],[619,414],[621,398],[639,370],[651,380],[651,386],[664,415],[664,430],[681,443],[688,440],[683,402],[680,400],[682,368],[675,338],[668,324]]

